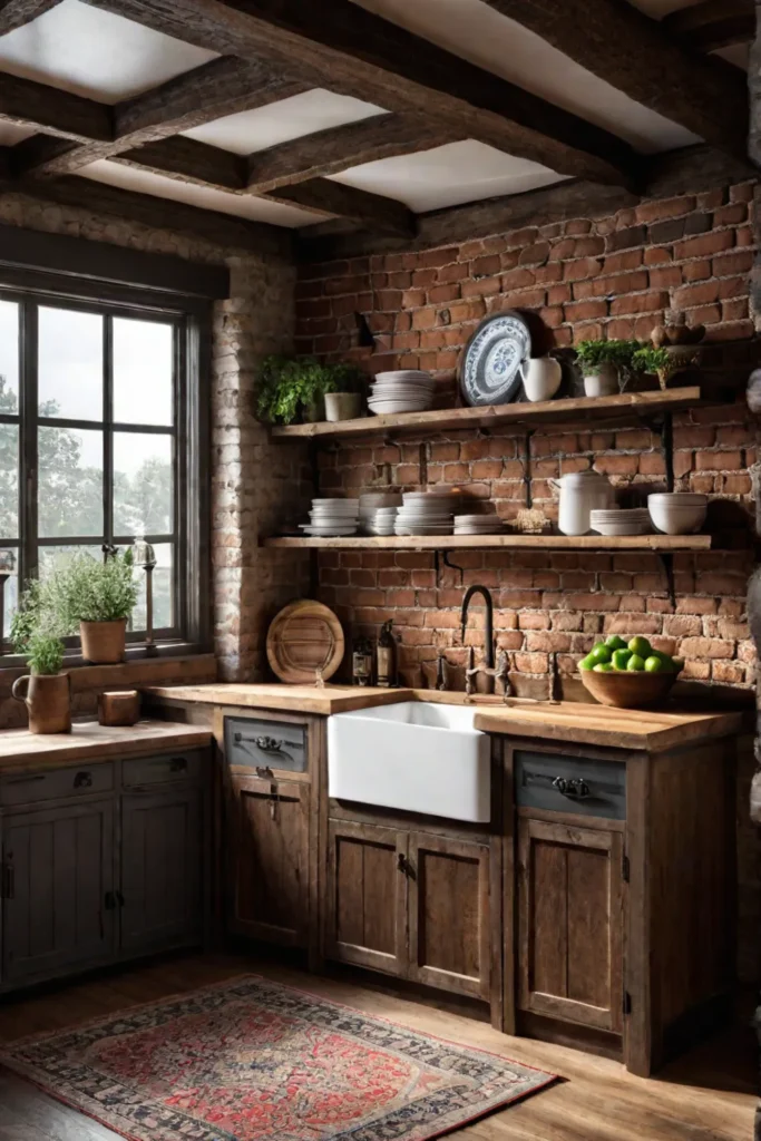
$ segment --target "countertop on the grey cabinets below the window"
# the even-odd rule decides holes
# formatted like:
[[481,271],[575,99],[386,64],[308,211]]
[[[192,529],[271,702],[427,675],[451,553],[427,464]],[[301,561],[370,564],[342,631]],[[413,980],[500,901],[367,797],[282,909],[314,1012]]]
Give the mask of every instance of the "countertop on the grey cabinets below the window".
[[175,748],[203,748],[211,743],[210,729],[170,721],[138,721],[111,727],[97,721],[74,722],[71,733],[33,734],[27,729],[0,731],[0,775],[6,769],[65,764],[79,760],[106,760],[165,753]]

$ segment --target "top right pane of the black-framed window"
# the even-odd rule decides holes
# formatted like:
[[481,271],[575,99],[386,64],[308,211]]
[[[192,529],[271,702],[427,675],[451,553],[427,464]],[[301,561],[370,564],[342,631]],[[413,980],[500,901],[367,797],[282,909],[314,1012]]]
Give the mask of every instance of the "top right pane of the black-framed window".
[[114,318],[114,420],[168,424],[172,416],[172,325]]

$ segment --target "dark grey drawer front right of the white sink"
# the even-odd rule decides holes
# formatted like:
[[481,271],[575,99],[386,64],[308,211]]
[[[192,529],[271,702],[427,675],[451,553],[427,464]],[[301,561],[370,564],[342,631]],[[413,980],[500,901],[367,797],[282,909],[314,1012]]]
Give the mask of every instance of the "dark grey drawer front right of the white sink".
[[516,800],[519,808],[624,820],[626,766],[520,750],[516,752]]

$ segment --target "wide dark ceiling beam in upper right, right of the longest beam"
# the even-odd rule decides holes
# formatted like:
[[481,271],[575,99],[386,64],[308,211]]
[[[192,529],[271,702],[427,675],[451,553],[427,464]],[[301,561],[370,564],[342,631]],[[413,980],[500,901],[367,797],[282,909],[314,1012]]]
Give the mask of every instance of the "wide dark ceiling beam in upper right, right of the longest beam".
[[598,79],[706,143],[746,153],[744,76],[721,59],[691,52],[657,21],[622,0],[486,0]]

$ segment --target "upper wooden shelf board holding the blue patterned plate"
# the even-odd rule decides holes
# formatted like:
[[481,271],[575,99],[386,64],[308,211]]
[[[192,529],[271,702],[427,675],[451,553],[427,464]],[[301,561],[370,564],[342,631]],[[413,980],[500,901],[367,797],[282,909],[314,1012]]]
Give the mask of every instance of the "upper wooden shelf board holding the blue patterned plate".
[[489,404],[475,408],[436,408],[432,412],[397,412],[361,420],[324,421],[315,424],[289,424],[273,428],[273,439],[326,439],[377,436],[378,434],[444,431],[467,428],[499,428],[518,424],[527,428],[540,423],[562,423],[577,420],[615,421],[653,416],[665,412],[691,408],[701,403],[701,389],[673,388],[656,393],[622,393],[617,396],[573,397],[513,404]]

